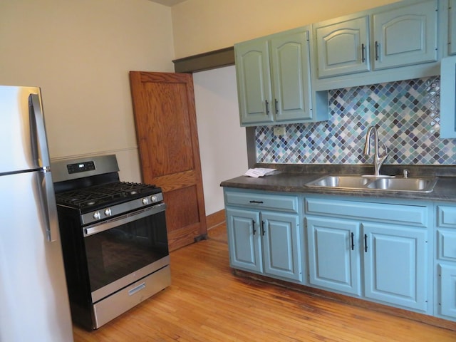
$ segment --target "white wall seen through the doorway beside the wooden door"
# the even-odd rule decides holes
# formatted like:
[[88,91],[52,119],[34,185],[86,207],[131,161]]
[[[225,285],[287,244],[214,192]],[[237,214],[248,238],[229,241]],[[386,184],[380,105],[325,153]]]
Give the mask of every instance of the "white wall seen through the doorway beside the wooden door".
[[247,171],[234,66],[193,74],[206,214],[224,208],[220,182]]

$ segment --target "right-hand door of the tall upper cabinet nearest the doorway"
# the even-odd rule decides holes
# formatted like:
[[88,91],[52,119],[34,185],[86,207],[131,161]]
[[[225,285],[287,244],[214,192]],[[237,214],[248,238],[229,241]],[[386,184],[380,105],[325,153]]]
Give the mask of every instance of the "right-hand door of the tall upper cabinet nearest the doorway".
[[274,116],[277,122],[311,119],[308,32],[271,39]]

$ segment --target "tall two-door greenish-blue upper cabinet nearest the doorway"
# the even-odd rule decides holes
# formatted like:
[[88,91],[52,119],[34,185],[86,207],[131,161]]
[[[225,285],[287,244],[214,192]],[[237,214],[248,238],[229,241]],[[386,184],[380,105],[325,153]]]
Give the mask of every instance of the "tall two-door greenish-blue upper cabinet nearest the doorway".
[[311,93],[309,28],[234,44],[234,56],[242,126],[328,120]]

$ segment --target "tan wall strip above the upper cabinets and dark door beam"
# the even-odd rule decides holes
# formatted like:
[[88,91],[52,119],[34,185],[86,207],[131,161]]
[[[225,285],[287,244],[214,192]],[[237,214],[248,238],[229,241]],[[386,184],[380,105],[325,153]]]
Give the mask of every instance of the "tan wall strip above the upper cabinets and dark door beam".
[[398,0],[187,0],[172,7],[176,58]]

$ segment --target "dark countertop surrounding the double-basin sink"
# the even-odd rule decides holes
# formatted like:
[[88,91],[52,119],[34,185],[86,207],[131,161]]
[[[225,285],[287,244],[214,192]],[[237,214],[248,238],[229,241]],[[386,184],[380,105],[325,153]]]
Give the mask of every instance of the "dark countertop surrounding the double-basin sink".
[[372,165],[277,165],[259,164],[256,167],[271,167],[279,170],[276,175],[266,177],[239,176],[223,181],[221,187],[264,190],[274,192],[299,192],[301,194],[343,195],[371,198],[420,199],[426,201],[456,202],[456,167],[430,165],[383,165],[384,175],[400,175],[402,170],[410,171],[413,177],[438,177],[432,192],[407,192],[391,190],[352,190],[323,187],[306,187],[307,182],[323,175],[364,175],[372,174]]

